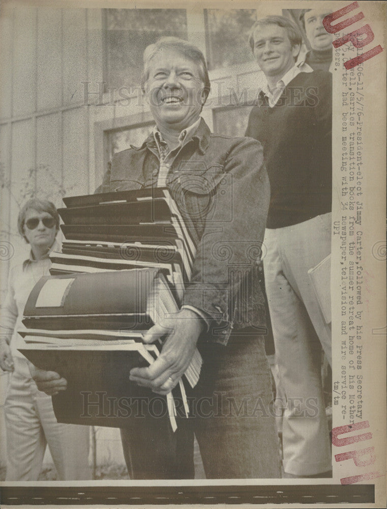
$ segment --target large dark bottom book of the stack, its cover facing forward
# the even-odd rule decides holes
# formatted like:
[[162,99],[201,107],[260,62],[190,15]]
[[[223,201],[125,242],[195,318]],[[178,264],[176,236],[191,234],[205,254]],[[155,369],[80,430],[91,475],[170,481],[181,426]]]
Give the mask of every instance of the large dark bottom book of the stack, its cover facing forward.
[[[78,425],[125,428],[128,419],[136,418],[138,398],[155,398],[150,389],[140,388],[129,380],[133,367],[154,362],[154,345],[95,344],[39,345],[30,344],[20,352],[33,364],[55,371],[67,380],[67,389],[52,397],[58,422]],[[169,398],[163,400],[168,412]],[[137,409],[138,411],[138,409]],[[166,415],[169,415],[168,413]],[[138,415],[137,415],[138,417]],[[175,426],[173,418],[172,428]]]

